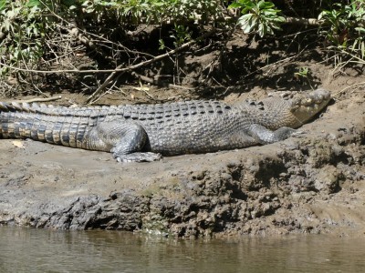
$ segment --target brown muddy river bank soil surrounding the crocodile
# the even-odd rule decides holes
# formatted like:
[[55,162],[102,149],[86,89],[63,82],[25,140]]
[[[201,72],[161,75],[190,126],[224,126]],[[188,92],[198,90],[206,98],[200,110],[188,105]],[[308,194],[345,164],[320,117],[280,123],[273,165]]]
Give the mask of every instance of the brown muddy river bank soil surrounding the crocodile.
[[[239,60],[247,53],[244,49],[252,53],[250,46],[237,37],[227,44],[231,55],[223,69],[230,86],[217,87],[215,93],[211,89],[209,97],[239,102],[276,90],[324,87],[333,101],[301,128],[305,134],[262,147],[128,164],[115,162],[109,153],[2,139],[0,224],[123,229],[184,238],[288,233],[363,237],[365,76],[355,68],[334,74],[333,64],[319,62],[318,53],[312,52],[280,63],[262,81],[246,85],[242,75],[247,62]],[[186,76],[198,79],[216,55],[184,56]],[[263,51],[257,51],[255,64],[260,60],[266,60]],[[298,80],[293,76],[298,67],[308,67],[311,76]],[[124,86],[127,95],[107,94],[99,103],[206,97],[148,88],[147,96],[141,88]],[[73,92],[62,96],[57,103],[79,103],[87,97]]]

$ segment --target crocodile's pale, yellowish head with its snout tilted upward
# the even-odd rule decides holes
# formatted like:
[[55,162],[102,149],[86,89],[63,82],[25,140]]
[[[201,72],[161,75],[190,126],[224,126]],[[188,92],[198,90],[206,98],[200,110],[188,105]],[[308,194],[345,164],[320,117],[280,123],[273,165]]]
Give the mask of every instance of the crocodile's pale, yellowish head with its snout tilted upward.
[[327,90],[317,89],[304,96],[294,97],[291,101],[290,112],[300,126],[327,106],[329,99],[330,94]]

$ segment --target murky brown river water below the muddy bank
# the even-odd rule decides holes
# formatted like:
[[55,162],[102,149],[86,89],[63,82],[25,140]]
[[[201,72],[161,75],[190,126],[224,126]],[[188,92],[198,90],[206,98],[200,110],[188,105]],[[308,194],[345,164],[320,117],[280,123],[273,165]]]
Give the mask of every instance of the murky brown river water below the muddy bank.
[[365,272],[365,238],[179,240],[0,227],[0,272]]

